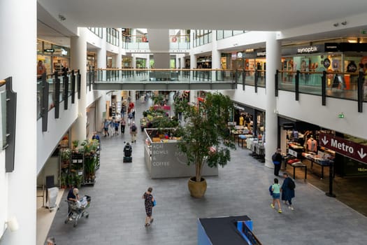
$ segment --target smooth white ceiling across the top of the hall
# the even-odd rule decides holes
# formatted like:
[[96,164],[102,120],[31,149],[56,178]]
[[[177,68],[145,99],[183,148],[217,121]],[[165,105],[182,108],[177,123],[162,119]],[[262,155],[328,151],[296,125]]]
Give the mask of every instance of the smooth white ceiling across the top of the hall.
[[[366,0],[38,0],[78,27],[280,31],[366,13]],[[52,8],[52,9],[51,9]]]

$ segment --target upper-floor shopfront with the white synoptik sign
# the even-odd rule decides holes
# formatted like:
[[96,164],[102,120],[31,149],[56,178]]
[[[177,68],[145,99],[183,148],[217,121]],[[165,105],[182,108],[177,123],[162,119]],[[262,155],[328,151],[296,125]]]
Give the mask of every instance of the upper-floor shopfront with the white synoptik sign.
[[[328,72],[357,72],[359,64],[367,63],[366,43],[318,43],[314,45],[282,48],[283,71],[328,71]],[[293,76],[292,73],[288,74]],[[283,77],[283,80],[292,79]],[[326,85],[333,86],[334,76],[327,76]],[[293,76],[294,81],[294,76]],[[300,83],[321,85],[319,76],[301,73]],[[357,89],[357,76],[343,76],[345,90]]]

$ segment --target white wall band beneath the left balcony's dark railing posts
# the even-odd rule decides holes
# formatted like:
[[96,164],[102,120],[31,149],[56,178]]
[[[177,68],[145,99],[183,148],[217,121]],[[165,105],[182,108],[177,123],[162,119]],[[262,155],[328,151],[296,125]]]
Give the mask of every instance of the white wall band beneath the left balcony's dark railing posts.
[[76,118],[78,118],[78,94],[75,94],[75,104],[71,104],[69,97],[68,110],[64,110],[64,103],[60,104],[58,119],[55,119],[55,109],[49,111],[47,132],[42,132],[42,119],[37,121],[37,174]]

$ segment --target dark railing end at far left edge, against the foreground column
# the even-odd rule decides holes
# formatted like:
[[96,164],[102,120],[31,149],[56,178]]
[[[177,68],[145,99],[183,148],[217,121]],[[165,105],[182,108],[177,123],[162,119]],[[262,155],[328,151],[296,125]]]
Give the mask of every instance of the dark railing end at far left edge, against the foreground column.
[[5,171],[13,172],[15,158],[15,126],[17,115],[17,93],[13,91],[13,78],[0,80],[0,142],[5,150]]

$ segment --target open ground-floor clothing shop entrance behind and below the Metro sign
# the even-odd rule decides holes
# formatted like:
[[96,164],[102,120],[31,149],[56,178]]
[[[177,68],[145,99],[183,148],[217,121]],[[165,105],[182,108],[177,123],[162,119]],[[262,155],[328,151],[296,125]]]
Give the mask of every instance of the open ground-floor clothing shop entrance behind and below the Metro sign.
[[336,199],[367,216],[367,165],[320,146],[322,139],[319,135],[326,134],[362,145],[367,145],[367,140],[289,118],[279,118],[278,122],[278,144],[282,153],[287,154],[282,170],[299,180],[305,179],[307,168],[305,181],[325,193],[329,193],[331,177]]

